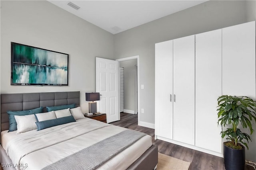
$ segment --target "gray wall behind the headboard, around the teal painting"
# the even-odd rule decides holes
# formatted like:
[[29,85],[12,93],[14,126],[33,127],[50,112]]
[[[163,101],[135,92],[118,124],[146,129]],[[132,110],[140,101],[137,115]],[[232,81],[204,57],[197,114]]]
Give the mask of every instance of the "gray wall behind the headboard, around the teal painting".
[[[11,86],[10,42],[49,49],[69,56],[68,86]],[[48,1],[1,0],[1,93],[95,91],[95,57],[113,59],[114,37]]]

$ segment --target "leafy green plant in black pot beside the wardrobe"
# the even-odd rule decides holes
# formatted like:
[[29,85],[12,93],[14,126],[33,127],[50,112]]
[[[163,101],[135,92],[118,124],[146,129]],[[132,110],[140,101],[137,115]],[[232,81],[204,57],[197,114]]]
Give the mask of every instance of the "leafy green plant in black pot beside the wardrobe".
[[[226,170],[244,170],[245,149],[251,140],[254,129],[252,122],[256,122],[254,107],[256,102],[246,96],[220,96],[218,98],[218,125],[226,125],[226,131],[221,132],[221,137],[228,139],[223,143],[224,164]],[[242,132],[238,125],[250,129],[250,135]],[[246,143],[247,142],[247,143]]]

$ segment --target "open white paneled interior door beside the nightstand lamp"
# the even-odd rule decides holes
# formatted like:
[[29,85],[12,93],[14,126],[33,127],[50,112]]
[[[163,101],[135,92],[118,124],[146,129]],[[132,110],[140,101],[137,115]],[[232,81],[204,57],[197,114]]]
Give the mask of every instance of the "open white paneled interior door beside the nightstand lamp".
[[106,113],[107,123],[118,121],[118,61],[96,57],[96,92],[101,95],[97,110]]

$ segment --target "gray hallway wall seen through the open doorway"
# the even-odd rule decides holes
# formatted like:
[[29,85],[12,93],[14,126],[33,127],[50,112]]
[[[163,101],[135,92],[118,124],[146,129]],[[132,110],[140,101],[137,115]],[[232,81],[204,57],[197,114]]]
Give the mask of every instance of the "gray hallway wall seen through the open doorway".
[[120,62],[120,67],[124,67],[124,109],[132,110],[132,111],[135,111],[135,65],[136,64],[137,64],[137,59]]

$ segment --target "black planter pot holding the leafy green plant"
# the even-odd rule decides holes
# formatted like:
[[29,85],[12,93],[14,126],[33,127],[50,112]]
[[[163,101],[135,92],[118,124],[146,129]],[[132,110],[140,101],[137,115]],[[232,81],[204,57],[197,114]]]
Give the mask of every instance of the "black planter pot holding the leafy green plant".
[[[225,142],[224,142],[225,143]],[[226,170],[244,170],[245,150],[232,149],[226,147],[223,143],[224,164]]]

